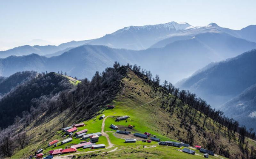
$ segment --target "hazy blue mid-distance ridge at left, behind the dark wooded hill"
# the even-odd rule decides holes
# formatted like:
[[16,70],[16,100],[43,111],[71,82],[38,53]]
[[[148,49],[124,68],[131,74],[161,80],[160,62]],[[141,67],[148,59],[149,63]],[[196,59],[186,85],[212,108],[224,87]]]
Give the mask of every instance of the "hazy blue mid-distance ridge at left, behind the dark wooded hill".
[[84,45],[76,47],[62,55],[46,58],[37,54],[26,56],[11,56],[0,59],[0,76],[8,77],[18,71],[63,71],[78,78],[91,78],[95,71],[103,71],[112,66],[114,61],[122,64],[134,59],[134,51],[126,49],[112,49],[105,46]]

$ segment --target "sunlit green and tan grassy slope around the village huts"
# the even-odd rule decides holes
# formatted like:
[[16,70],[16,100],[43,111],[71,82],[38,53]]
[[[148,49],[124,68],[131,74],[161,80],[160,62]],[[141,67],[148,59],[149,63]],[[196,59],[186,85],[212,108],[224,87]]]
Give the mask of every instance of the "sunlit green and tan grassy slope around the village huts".
[[[77,82],[74,81],[74,83]],[[221,154],[228,153],[230,158],[241,157],[242,148],[239,148],[237,140],[235,141],[233,137],[225,132],[225,127],[220,126],[219,123],[213,123],[208,118],[204,126],[205,130],[202,130],[204,115],[200,112],[196,112],[195,120],[191,124],[192,114],[185,113],[184,111],[188,107],[187,105],[181,107],[179,99],[174,102],[175,97],[173,95],[166,95],[160,90],[155,90],[133,71],[128,70],[127,76],[121,80],[119,87],[117,96],[109,103],[115,105],[115,108],[107,110],[106,107],[102,107],[89,120],[77,120],[74,118],[71,109],[67,109],[61,113],[53,113],[46,121],[35,127],[31,123],[26,128],[27,133],[32,136],[30,144],[26,148],[16,151],[12,158],[27,157],[39,148],[43,148],[43,153],[48,154],[50,150],[70,147],[80,143],[82,140],[73,138],[72,142],[58,145],[56,148],[53,148],[53,146],[47,147],[48,143],[52,140],[58,139],[62,141],[67,138],[61,137],[63,133],[60,131],[60,128],[63,127],[63,123],[65,126],[69,126],[71,123],[78,122],[85,123],[85,126],[78,128],[78,131],[88,129],[88,133],[102,131],[106,133],[99,138],[97,143],[104,143],[106,148],[97,150],[80,148],[77,149],[77,153],[65,154],[62,155],[63,157],[75,155],[83,158],[203,158],[203,154],[193,148],[191,149],[196,151],[196,155],[183,153],[180,151],[182,148],[158,145],[154,141],[142,143],[141,140],[138,140],[137,143],[124,143],[123,138],[125,135],[116,134],[115,130],[109,127],[111,124],[118,126],[120,130],[126,128],[133,133],[149,132],[151,136],[156,135],[161,141],[182,141],[184,143],[188,143],[189,135],[191,135],[188,133],[188,129],[191,129],[193,134],[192,147],[194,145],[207,147],[210,143],[214,143],[216,154],[220,152]],[[106,117],[104,120],[99,120],[102,114]],[[128,115],[130,118],[119,122],[115,121],[117,117],[123,115]],[[105,122],[103,127],[102,122]],[[129,129],[129,124],[135,126],[134,129]],[[256,146],[255,141],[246,140],[249,145]],[[209,158],[225,157],[216,155],[209,156]]]

